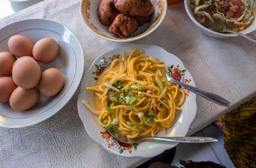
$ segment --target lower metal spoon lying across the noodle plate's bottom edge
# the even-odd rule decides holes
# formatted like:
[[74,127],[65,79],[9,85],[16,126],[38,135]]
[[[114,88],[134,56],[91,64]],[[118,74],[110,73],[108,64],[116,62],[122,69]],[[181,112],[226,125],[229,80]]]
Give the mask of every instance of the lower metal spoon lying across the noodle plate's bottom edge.
[[178,143],[210,143],[218,142],[217,139],[209,137],[141,137],[136,139],[128,139],[126,136],[119,134],[113,129],[108,130],[109,134],[116,140],[124,144],[135,144],[144,140],[157,140],[157,141],[166,141],[166,142],[178,142]]

